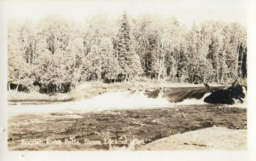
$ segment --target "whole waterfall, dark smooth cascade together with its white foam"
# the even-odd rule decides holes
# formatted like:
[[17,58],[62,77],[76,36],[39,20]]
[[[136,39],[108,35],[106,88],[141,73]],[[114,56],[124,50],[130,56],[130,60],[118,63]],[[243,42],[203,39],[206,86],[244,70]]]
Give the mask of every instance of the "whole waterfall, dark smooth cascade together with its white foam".
[[[224,89],[217,87],[216,89]],[[90,99],[68,102],[16,102],[9,104],[9,115],[25,113],[51,112],[93,112],[116,109],[155,109],[175,106],[209,105],[203,100],[210,93],[203,87],[152,89],[146,91],[125,91],[97,95]],[[236,101],[230,107],[246,107],[247,98],[243,103]]]

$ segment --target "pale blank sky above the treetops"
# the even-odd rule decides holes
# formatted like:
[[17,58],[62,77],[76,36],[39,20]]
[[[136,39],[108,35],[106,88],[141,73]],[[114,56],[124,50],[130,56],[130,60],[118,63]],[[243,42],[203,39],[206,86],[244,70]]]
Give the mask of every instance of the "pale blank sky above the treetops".
[[9,18],[37,20],[47,14],[60,14],[68,19],[84,20],[93,14],[117,17],[126,11],[139,14],[175,16],[186,26],[202,20],[238,21],[247,26],[246,0],[119,0],[119,1],[37,1],[12,2],[3,7]]

